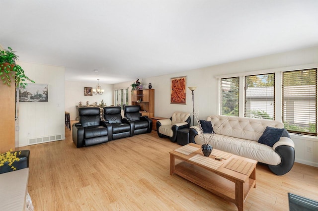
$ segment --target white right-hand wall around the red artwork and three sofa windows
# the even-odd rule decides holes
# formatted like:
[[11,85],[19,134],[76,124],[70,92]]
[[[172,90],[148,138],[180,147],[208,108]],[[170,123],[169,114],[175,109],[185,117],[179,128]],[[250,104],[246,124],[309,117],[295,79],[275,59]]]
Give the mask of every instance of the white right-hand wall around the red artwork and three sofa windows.
[[[188,89],[186,105],[170,104],[170,78],[187,76],[187,86],[197,86],[197,89],[194,91],[194,107],[199,111],[199,118],[205,119],[208,115],[218,113],[217,76],[242,75],[245,72],[250,73],[277,68],[288,69],[288,67],[292,66],[306,66],[307,64],[314,63],[318,63],[318,47],[146,78],[142,79],[142,84],[153,84],[153,89],[155,89],[155,116],[170,117],[172,112],[176,110],[192,112],[191,91]],[[128,85],[131,88],[130,84],[133,82],[116,84],[114,87],[127,87]],[[318,167],[317,137],[293,136],[292,139],[295,142],[296,162]],[[307,146],[312,146],[312,153],[307,152]]]

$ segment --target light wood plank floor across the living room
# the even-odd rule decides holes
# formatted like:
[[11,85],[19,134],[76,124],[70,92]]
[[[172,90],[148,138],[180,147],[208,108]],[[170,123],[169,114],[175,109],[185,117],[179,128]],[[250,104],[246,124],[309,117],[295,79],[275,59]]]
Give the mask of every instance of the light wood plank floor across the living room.
[[[96,146],[76,148],[66,140],[27,147],[28,191],[35,211],[236,211],[205,189],[169,175],[169,151],[180,147],[156,131]],[[287,193],[318,200],[318,168],[295,163],[277,176],[257,164],[256,188],[246,211],[288,211]]]

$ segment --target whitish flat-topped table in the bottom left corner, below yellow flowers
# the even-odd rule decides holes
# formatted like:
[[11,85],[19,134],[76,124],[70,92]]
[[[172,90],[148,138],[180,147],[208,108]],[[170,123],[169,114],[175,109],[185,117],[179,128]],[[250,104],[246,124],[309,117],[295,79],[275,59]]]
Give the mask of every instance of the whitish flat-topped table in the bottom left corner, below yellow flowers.
[[0,174],[1,211],[24,211],[29,168]]

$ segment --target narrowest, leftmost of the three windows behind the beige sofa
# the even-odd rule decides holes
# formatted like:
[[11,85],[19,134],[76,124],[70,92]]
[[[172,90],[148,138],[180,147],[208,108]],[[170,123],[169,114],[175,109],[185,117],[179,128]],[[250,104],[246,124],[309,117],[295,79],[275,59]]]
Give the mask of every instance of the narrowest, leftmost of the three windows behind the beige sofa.
[[239,77],[221,79],[221,115],[239,116]]

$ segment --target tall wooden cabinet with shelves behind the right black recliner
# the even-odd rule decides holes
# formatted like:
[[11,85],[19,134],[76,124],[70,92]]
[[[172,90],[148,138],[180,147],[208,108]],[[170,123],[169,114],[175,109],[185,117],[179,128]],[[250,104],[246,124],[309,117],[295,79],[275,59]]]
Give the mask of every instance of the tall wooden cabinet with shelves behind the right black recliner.
[[154,117],[155,115],[155,90],[134,90],[131,105],[139,105],[143,116]]

